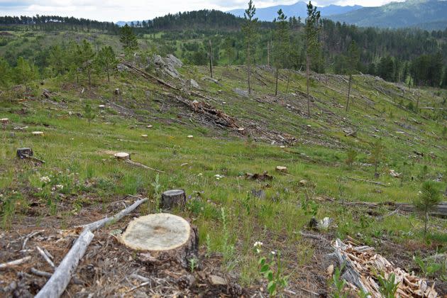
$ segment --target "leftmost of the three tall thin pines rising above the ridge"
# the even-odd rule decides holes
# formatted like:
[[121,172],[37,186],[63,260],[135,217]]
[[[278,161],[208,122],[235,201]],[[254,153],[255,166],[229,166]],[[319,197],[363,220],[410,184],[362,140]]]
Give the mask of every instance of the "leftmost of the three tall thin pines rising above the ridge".
[[247,65],[247,84],[248,84],[248,94],[251,94],[250,87],[250,75],[251,75],[251,49],[255,43],[255,35],[256,29],[258,28],[258,18],[255,18],[256,9],[253,5],[253,0],[248,1],[248,9],[245,9],[245,13],[243,14],[245,22],[242,26],[243,35],[245,38],[245,47],[246,47],[246,57],[245,64]]

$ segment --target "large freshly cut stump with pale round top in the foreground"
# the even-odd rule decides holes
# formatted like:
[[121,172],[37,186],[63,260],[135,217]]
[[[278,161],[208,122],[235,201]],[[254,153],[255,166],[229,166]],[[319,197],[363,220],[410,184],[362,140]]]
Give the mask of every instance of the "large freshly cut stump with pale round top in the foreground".
[[187,267],[197,258],[199,236],[197,228],[180,216],[166,213],[141,216],[131,221],[119,241],[133,250],[143,250],[143,263],[175,260]]

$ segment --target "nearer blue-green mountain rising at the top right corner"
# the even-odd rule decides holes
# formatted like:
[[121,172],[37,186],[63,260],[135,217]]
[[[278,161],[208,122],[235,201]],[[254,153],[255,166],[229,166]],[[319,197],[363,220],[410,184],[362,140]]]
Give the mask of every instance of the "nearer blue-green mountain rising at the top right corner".
[[362,27],[407,28],[445,30],[447,27],[447,1],[408,0],[383,6],[365,7],[355,11],[328,16],[333,21]]

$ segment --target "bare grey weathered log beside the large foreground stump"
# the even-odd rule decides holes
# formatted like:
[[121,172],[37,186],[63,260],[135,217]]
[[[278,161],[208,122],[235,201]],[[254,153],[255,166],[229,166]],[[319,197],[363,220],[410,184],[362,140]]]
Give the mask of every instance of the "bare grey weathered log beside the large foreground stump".
[[75,241],[70,251],[65,255],[65,258],[62,260],[59,266],[57,266],[55,272],[51,276],[50,280],[43,286],[42,289],[35,295],[36,298],[53,298],[60,297],[62,293],[65,291],[65,288],[70,283],[72,279],[73,272],[76,271],[76,267],[79,264],[79,260],[84,256],[85,251],[87,250],[87,246],[92,242],[94,234],[92,231],[97,230],[98,228],[102,228],[109,222],[116,222],[122,219],[127,214],[131,213],[135,210],[140,204],[148,201],[145,199],[138,199],[131,206],[128,206],[126,209],[121,210],[117,214],[112,217],[101,219],[99,221],[95,221],[93,223],[89,223],[84,226],[84,230],[81,235]]

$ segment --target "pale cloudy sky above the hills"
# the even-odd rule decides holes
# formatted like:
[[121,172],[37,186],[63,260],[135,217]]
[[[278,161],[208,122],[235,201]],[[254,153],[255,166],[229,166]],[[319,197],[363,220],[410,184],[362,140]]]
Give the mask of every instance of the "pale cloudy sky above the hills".
[[[164,16],[167,13],[197,9],[245,8],[248,0],[0,0],[0,16],[58,15],[91,18],[99,21],[136,21]],[[297,0],[254,0],[256,7],[293,4]],[[317,6],[329,4],[380,6],[390,0],[319,0]]]

